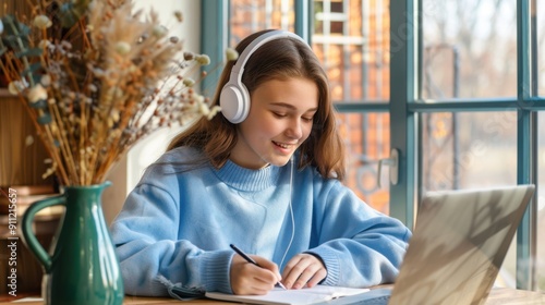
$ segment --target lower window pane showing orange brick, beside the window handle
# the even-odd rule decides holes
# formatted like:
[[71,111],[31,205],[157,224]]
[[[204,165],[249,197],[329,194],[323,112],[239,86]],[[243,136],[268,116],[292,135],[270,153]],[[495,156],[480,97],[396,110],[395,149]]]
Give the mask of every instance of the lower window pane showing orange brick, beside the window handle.
[[377,160],[390,155],[388,113],[339,113],[342,138],[347,146],[347,181],[354,193],[375,209],[389,212],[388,167],[377,183]]

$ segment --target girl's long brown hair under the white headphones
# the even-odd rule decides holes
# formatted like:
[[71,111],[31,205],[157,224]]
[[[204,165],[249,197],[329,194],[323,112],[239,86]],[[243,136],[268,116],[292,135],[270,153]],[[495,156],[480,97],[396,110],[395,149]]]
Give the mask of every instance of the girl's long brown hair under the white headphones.
[[[237,51],[242,53],[251,41],[269,30],[247,36],[237,46]],[[226,64],[213,105],[219,105],[221,88],[229,81],[234,61]],[[313,130],[299,148],[301,158],[298,168],[313,166],[317,168],[322,176],[342,181],[346,175],[344,146],[336,123],[329,83],[316,54],[308,46],[292,38],[275,39],[264,44],[247,59],[242,83],[252,95],[264,82],[290,77],[304,77],[315,82],[319,95]],[[202,118],[193,126],[177,135],[167,150],[180,146],[195,147],[204,151],[206,161],[209,160],[216,168],[220,168],[229,159],[235,144],[237,124],[218,114],[211,120]]]

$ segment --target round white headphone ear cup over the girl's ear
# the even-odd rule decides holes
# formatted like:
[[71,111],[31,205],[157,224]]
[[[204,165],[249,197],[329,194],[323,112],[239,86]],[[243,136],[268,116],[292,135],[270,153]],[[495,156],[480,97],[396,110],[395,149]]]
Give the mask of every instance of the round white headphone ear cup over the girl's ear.
[[244,121],[250,112],[250,95],[246,87],[243,84],[225,85],[219,96],[219,106],[229,122],[238,124]]

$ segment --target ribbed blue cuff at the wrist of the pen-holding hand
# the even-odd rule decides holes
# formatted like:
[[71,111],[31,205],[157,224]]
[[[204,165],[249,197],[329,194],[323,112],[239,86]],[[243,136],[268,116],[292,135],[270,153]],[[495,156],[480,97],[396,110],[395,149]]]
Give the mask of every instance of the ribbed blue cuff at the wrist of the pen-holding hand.
[[206,291],[232,293],[229,273],[234,253],[232,251],[222,251],[209,252],[203,255],[205,257],[202,261],[201,274],[205,280]]

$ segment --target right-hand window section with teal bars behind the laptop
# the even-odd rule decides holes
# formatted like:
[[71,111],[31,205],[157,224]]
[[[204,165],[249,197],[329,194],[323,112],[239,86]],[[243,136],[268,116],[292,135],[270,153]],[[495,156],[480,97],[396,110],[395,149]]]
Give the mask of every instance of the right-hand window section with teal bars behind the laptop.
[[[535,151],[543,150],[545,129],[538,129],[543,112],[534,111],[544,102],[537,95],[543,96],[544,65],[536,56],[545,40],[543,7],[540,1],[423,0],[415,99],[423,106],[415,111],[423,142],[421,190],[536,184],[499,284],[541,290],[545,236],[538,220],[545,209],[540,194],[545,188],[540,172],[545,166]],[[531,57],[523,56],[528,51]],[[542,267],[518,273],[529,261]]]

